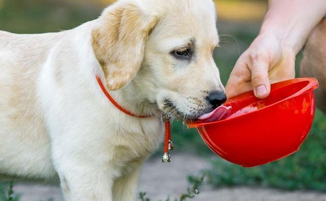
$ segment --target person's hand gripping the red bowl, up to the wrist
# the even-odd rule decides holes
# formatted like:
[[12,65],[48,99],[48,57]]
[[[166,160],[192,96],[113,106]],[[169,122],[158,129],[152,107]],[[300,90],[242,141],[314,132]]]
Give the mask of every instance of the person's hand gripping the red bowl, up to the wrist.
[[295,77],[295,52],[277,37],[259,35],[236,62],[228,83],[228,97],[254,90],[257,98],[266,98],[270,84]]

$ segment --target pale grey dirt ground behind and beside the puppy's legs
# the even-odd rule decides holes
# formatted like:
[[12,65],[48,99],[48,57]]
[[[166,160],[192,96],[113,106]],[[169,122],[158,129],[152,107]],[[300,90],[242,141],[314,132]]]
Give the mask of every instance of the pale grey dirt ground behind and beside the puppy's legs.
[[[139,191],[146,191],[151,201],[164,200],[168,194],[172,198],[185,192],[188,186],[186,177],[198,173],[199,170],[209,167],[209,162],[201,158],[184,154],[172,154],[172,162],[162,164],[160,158],[153,158],[146,162],[140,179]],[[58,187],[40,186],[31,184],[17,184],[14,189],[21,193],[21,201],[40,201],[54,198],[60,201],[61,192]],[[168,193],[168,194],[166,194]],[[260,188],[221,188],[211,189],[204,186],[194,201],[324,201],[326,193],[280,191]]]

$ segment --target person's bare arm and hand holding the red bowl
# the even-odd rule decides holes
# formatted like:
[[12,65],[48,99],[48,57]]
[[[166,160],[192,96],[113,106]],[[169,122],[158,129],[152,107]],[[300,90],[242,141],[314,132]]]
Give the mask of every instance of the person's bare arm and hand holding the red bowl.
[[254,90],[265,98],[270,83],[294,78],[295,56],[325,13],[324,0],[270,0],[259,35],[231,72],[228,97]]

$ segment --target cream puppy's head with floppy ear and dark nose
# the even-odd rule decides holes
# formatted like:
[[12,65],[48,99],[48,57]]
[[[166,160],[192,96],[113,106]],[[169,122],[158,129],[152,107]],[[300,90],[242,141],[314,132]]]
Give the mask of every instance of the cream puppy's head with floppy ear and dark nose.
[[226,101],[212,53],[219,38],[211,0],[125,0],[101,16],[94,53],[107,86],[129,83],[165,113],[195,119]]

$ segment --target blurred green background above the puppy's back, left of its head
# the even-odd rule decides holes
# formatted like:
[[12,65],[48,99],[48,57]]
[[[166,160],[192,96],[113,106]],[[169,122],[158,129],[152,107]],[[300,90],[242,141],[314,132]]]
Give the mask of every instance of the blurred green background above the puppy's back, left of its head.
[[[95,19],[101,9],[82,3],[52,0],[3,0],[0,30],[14,33],[44,33],[72,29]],[[1,1],[0,1],[1,2]]]

